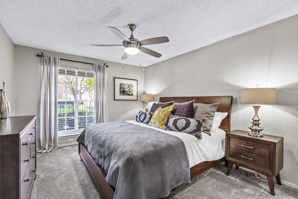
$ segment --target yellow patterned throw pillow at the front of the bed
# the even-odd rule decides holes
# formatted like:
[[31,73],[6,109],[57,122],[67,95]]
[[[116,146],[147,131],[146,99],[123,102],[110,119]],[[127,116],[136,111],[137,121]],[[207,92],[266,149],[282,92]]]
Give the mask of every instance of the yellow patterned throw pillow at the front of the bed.
[[174,105],[167,106],[165,108],[159,107],[153,113],[150,121],[149,126],[154,126],[157,128],[165,129],[167,120],[174,108]]

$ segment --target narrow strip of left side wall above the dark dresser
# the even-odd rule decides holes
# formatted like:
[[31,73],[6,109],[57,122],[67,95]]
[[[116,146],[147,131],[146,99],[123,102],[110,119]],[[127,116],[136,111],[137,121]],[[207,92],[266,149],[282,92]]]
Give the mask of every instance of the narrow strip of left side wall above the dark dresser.
[[14,44],[0,24],[0,88],[5,82],[5,94],[10,104],[9,116],[14,112]]

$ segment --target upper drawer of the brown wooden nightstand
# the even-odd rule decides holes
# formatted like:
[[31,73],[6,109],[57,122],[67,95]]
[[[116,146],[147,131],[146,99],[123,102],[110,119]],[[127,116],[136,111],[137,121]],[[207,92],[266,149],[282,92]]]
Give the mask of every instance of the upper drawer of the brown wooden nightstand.
[[269,145],[259,144],[233,137],[230,138],[230,147],[250,153],[255,153],[261,156],[269,157],[270,155]]

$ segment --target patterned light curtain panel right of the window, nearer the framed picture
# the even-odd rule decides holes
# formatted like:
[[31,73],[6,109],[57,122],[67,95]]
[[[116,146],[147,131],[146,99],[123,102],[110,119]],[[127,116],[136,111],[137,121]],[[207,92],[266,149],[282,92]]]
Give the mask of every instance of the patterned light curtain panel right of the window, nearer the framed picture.
[[105,64],[93,65],[95,123],[106,122],[106,73]]

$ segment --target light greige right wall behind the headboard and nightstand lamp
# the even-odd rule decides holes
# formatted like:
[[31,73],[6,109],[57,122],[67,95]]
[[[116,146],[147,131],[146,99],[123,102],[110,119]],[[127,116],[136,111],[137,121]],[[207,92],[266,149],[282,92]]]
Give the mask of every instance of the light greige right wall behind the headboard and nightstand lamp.
[[259,110],[264,133],[284,137],[281,178],[298,185],[298,15],[146,67],[144,91],[160,96],[233,96],[231,129],[249,130],[254,110],[240,89],[277,88]]

